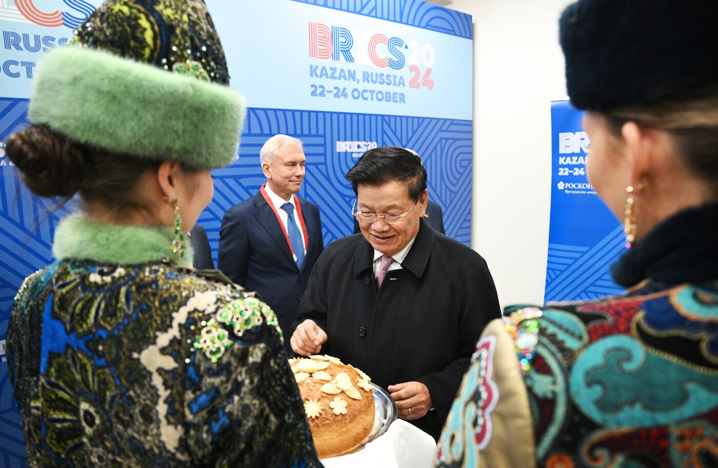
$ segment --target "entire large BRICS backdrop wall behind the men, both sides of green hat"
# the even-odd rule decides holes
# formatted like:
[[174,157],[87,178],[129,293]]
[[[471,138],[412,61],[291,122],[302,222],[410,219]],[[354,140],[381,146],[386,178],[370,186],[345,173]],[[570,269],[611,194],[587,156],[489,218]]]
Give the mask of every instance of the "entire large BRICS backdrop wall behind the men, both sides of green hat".
[[[299,195],[320,207],[325,244],[353,230],[354,194],[344,174],[367,149],[388,145],[422,157],[447,235],[470,242],[470,16],[421,0],[205,1],[230,85],[248,103],[238,158],[213,172],[215,197],[200,216],[215,263],[222,217],[265,181],[259,149],[278,133],[304,142]],[[14,295],[52,262],[55,225],[75,209],[22,187],[4,144],[27,125],[37,62],[65,45],[99,4],[0,0],[0,467],[25,465],[4,342]]]

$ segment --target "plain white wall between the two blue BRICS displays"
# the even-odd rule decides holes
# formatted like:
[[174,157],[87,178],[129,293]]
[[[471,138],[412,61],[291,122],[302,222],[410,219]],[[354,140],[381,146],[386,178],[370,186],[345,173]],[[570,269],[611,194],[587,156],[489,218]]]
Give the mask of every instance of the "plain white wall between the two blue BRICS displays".
[[569,0],[454,0],[474,22],[471,245],[502,306],[542,304],[551,202],[551,98],[566,95],[558,19]]

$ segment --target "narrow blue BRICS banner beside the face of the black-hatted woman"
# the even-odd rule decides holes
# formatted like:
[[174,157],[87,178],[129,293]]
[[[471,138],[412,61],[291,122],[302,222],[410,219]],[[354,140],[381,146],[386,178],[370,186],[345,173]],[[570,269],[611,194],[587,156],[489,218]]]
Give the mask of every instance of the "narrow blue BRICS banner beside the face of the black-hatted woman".
[[620,294],[610,265],[625,252],[623,227],[586,176],[591,140],[584,116],[567,100],[551,103],[552,164],[549,258],[544,301]]

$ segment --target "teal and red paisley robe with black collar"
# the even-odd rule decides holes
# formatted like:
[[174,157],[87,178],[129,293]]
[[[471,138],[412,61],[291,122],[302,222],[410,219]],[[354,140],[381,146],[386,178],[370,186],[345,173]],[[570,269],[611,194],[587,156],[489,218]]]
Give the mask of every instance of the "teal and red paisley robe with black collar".
[[623,296],[491,322],[435,466],[718,467],[717,232],[684,210],[620,258]]

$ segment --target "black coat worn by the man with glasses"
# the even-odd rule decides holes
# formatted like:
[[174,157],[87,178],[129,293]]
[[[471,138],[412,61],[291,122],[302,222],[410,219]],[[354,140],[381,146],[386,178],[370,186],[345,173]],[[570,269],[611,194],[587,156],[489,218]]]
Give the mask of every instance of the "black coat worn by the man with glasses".
[[[374,277],[361,234],[336,240],[309,278],[292,333],[305,319],[327,332],[322,353],[367,373],[383,388],[417,380],[434,411],[411,421],[436,439],[482,329],[500,317],[484,259],[421,220],[401,270]],[[291,334],[287,334],[291,336]]]

